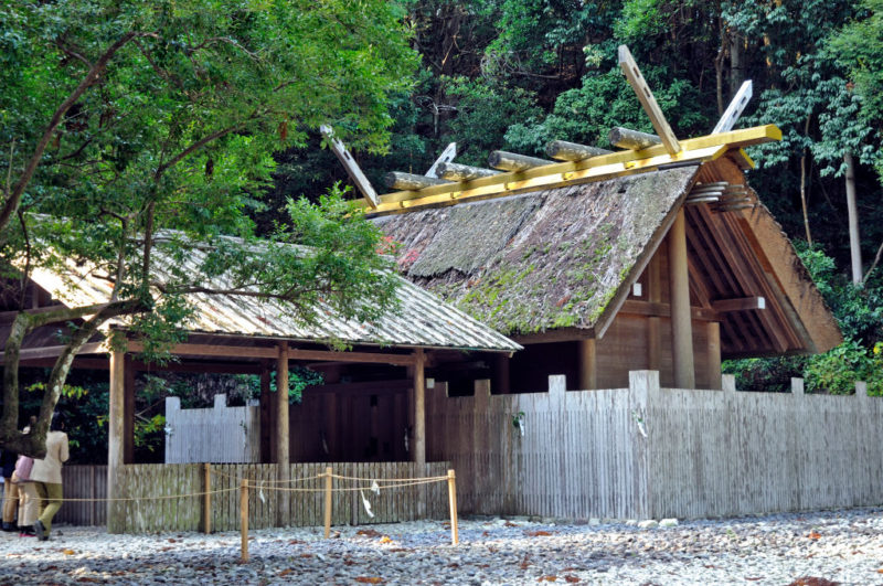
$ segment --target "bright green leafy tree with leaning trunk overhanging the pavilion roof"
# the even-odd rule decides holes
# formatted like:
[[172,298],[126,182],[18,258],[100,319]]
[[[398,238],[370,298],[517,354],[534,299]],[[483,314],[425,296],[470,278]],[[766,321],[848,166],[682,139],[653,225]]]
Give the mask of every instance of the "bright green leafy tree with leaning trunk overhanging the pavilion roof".
[[[227,292],[285,299],[307,321],[319,296],[365,320],[390,307],[379,232],[339,192],[289,201],[273,234],[311,253],[278,244],[255,254],[249,213],[273,152],[306,143],[320,124],[383,150],[389,95],[415,65],[401,17],[384,0],[0,3],[4,276],[21,284],[34,266],[76,258],[114,283],[107,303],[39,315],[21,310],[23,287],[7,291],[20,311],[4,345],[0,446],[44,452],[73,356],[107,319],[128,316],[142,335],[172,340],[183,296],[216,292],[205,283],[221,274]],[[213,247],[199,274],[158,283],[156,247],[184,255],[194,241]],[[78,324],[23,437],[18,349],[33,329],[68,321]]]

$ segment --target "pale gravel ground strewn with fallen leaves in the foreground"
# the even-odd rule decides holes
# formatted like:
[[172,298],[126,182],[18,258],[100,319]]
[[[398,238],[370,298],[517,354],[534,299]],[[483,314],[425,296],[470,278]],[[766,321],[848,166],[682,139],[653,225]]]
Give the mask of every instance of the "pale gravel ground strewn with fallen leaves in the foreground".
[[[338,531],[339,530],[339,531]],[[883,584],[883,509],[691,521],[442,522],[108,535],[57,526],[47,542],[0,535],[0,584]],[[828,582],[830,580],[830,582]]]

